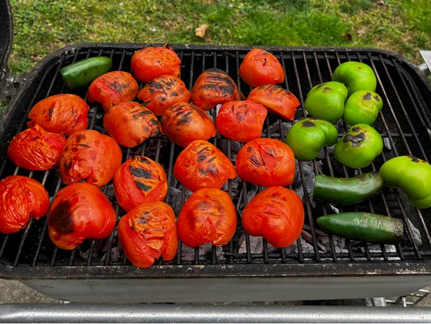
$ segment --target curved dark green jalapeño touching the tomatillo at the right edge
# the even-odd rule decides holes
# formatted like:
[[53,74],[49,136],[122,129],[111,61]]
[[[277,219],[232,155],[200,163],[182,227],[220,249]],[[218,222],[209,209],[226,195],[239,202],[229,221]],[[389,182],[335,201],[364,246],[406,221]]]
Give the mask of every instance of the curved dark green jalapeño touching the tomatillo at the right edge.
[[352,178],[336,178],[317,174],[313,197],[334,204],[356,204],[381,191],[383,177],[379,172],[368,172]]

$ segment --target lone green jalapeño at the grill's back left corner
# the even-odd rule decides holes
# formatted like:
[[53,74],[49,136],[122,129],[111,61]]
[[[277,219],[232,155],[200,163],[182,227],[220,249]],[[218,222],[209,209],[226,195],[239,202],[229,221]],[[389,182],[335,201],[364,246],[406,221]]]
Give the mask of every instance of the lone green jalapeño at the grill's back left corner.
[[112,64],[113,61],[109,57],[89,57],[61,68],[60,75],[69,88],[80,88],[88,86],[100,75],[108,73]]

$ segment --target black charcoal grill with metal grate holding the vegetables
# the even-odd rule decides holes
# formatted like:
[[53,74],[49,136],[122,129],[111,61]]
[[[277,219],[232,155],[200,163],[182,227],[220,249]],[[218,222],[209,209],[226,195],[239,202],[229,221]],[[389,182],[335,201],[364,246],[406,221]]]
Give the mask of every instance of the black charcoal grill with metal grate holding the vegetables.
[[[9,17],[10,19],[10,17]],[[6,19],[3,19],[6,21]],[[11,26],[6,26],[10,28]],[[12,35],[12,32],[10,32]],[[3,35],[4,36],[4,35]],[[50,53],[28,74],[14,77],[6,61],[10,41],[3,41],[3,96],[10,98],[0,120],[0,178],[28,175],[46,187],[50,197],[64,184],[57,169],[30,172],[19,169],[6,158],[13,136],[26,128],[26,115],[39,100],[57,93],[75,93],[84,99],[86,89],[70,90],[59,75],[60,68],[79,59],[108,56],[113,70],[131,72],[133,53],[146,46],[162,44],[77,44]],[[195,46],[173,44],[182,61],[181,78],[191,88],[207,68],[220,68],[237,82],[247,96],[251,90],[238,75],[238,67],[251,46]],[[286,81],[282,86],[301,102],[296,119],[305,117],[302,108],[312,86],[331,79],[344,61],[363,61],[372,66],[385,105],[374,127],[385,142],[383,153],[365,169],[347,169],[338,164],[331,149],[318,160],[298,162],[296,181],[291,188],[301,196],[306,220],[303,235],[285,249],[272,249],[267,242],[245,234],[238,222],[236,235],[223,247],[189,249],[180,245],[170,262],[159,260],[149,269],[138,269],[122,255],[115,231],[106,240],[86,240],[73,251],[57,249],[50,242],[47,218],[31,220],[17,234],[0,235],[0,277],[16,279],[37,291],[66,301],[103,303],[140,302],[233,302],[301,301],[320,299],[402,296],[431,284],[431,209],[415,209],[399,189],[384,189],[378,196],[343,207],[342,211],[370,211],[401,218],[405,237],[397,245],[370,245],[327,236],[316,227],[316,218],[332,213],[329,204],[316,202],[309,182],[314,173],[350,177],[357,172],[379,170],[385,160],[396,155],[414,155],[431,160],[431,87],[427,77],[407,59],[373,48],[265,47],[282,63]],[[142,86],[142,84],[140,85]],[[102,131],[102,107],[90,104],[89,128]],[[216,110],[211,111],[212,115]],[[265,137],[284,140],[290,122],[269,115]],[[343,122],[337,127],[345,131]],[[235,160],[238,143],[220,135],[211,139]],[[166,169],[170,190],[166,201],[176,211],[187,192],[172,173],[180,148],[164,135],[146,140],[134,149],[123,148],[123,158],[142,154]],[[311,178],[310,178],[311,177]],[[231,195],[240,215],[242,207],[260,190],[251,184],[229,180],[224,189]],[[124,211],[113,196],[112,185],[102,188],[111,198],[119,220]],[[341,207],[336,206],[338,209]],[[342,245],[341,245],[342,243]]]

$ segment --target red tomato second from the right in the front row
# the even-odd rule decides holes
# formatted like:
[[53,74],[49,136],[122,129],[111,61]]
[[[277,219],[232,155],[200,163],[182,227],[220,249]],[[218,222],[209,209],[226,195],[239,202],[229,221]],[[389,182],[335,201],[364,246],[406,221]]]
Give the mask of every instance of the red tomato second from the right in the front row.
[[199,189],[182,206],[178,215],[178,237],[188,247],[205,243],[227,244],[235,234],[236,209],[220,189]]

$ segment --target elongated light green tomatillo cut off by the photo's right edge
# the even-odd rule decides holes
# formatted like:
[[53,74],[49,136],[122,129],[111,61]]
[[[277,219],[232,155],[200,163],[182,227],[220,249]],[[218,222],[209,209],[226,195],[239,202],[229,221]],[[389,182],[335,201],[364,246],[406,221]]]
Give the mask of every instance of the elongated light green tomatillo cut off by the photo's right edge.
[[431,165],[414,156],[387,160],[379,170],[387,187],[400,187],[417,208],[431,207]]

